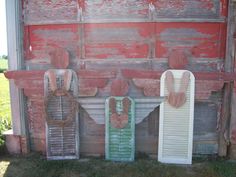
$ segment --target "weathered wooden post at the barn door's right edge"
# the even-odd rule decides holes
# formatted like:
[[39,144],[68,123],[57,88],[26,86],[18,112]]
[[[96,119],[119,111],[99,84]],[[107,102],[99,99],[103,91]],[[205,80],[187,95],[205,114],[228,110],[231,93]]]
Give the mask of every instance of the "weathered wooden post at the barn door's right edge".
[[[228,2],[228,23],[227,23],[227,43],[226,43],[226,57],[225,57],[225,72],[226,74],[234,73],[235,67],[235,44],[234,44],[234,34],[235,34],[235,15],[236,15],[236,4],[234,0],[229,0]],[[232,124],[234,122],[234,110],[235,110],[235,91],[233,89],[233,83],[231,81],[225,83],[224,94],[222,99],[222,110],[221,117],[219,120],[219,156],[230,156],[235,158],[235,148],[232,141]],[[228,152],[228,146],[231,144],[231,149]]]

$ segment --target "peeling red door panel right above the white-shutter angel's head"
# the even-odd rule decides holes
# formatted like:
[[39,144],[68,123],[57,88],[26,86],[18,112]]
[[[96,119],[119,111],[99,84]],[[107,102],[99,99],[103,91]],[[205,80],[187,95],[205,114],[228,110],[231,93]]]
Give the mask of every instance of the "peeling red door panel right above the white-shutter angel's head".
[[156,23],[157,58],[168,57],[173,49],[194,58],[224,58],[225,30],[220,23]]

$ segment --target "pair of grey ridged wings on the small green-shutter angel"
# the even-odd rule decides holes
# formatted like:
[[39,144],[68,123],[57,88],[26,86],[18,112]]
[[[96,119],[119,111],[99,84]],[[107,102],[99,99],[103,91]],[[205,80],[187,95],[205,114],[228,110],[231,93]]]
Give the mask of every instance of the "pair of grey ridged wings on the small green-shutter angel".
[[[105,124],[105,99],[106,98],[79,98],[78,102],[97,124]],[[143,119],[164,100],[164,98],[161,97],[133,99],[135,102],[136,124],[142,122]]]

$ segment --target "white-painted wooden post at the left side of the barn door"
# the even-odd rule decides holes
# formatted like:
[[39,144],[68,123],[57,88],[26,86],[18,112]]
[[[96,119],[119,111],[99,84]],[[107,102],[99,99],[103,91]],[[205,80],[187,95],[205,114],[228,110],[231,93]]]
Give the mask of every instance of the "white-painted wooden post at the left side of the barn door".
[[[9,70],[22,69],[22,30],[21,30],[21,1],[6,0],[7,44]],[[23,94],[10,81],[10,99],[12,112],[12,126],[14,135],[25,135]]]

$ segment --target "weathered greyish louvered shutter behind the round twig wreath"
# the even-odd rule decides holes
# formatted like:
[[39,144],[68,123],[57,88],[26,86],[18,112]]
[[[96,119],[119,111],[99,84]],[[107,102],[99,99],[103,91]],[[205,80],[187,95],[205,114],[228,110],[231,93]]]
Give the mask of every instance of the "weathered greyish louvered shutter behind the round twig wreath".
[[[57,75],[57,85],[62,83],[62,74],[65,70],[54,70]],[[72,71],[70,93],[78,95],[77,75]],[[50,90],[48,72],[44,75],[44,96],[47,97]],[[70,105],[67,97],[55,97],[48,105],[48,111],[55,119],[61,120],[69,113]],[[76,112],[74,120],[64,127],[48,125],[46,123],[46,147],[47,159],[78,159],[79,158],[79,119]]]

